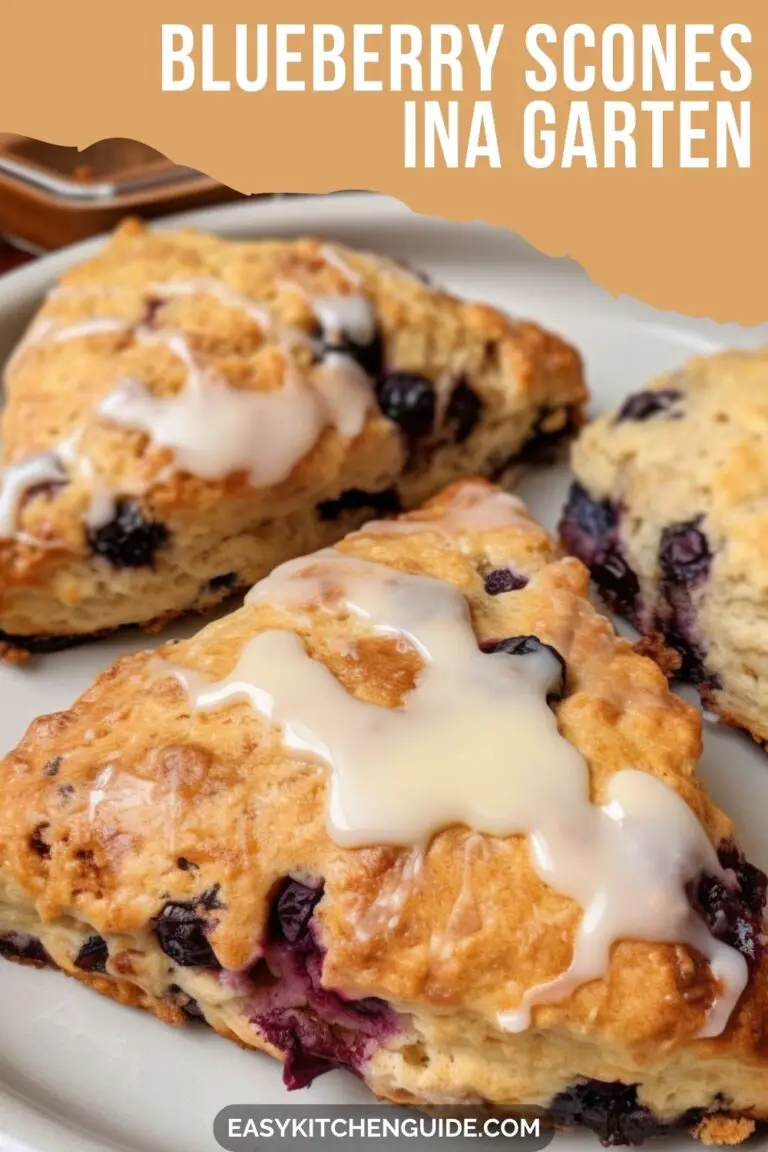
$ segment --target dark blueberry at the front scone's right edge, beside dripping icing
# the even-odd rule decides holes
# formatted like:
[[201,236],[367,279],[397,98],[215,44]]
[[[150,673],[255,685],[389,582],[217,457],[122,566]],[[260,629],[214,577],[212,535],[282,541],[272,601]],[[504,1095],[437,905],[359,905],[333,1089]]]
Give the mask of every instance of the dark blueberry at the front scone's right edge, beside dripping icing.
[[717,856],[721,865],[735,873],[736,888],[731,890],[717,877],[705,874],[692,893],[691,903],[704,916],[712,934],[740,952],[754,973],[766,950],[762,915],[768,878],[745,861],[732,840],[722,841]]

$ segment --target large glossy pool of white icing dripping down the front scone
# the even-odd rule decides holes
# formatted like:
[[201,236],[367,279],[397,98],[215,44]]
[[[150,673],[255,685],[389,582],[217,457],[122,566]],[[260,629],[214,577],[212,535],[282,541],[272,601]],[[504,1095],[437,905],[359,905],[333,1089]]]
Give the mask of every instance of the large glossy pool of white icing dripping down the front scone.
[[175,672],[197,708],[246,700],[279,726],[297,758],[327,770],[326,821],[336,843],[424,850],[456,824],[525,835],[539,877],[581,908],[571,964],[501,1013],[502,1029],[524,1030],[533,1006],[604,976],[611,946],[630,939],[706,956],[718,994],[701,1036],[723,1030],[746,962],[709,933],[686,895],[702,872],[724,878],[716,852],[682,797],[647,773],[616,773],[606,803],[591,802],[587,765],[547,704],[558,676],[550,652],[484,654],[453,585],[334,550],[283,564],[248,601],[349,613],[424,661],[404,706],[391,710],[347,692],[291,631],[254,636],[219,683]]

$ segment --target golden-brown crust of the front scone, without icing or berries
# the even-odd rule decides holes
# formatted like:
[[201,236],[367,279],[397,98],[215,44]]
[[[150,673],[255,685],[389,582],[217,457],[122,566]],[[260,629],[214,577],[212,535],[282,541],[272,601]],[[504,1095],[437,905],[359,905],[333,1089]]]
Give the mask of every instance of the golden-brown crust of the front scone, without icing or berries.
[[[429,501],[426,517],[461,492]],[[533,521],[481,533],[362,531],[339,547],[450,582],[479,642],[535,635],[553,645],[567,666],[558,728],[585,757],[595,802],[631,765],[674,788],[714,844],[732,838],[695,776],[698,713],[594,611],[584,566],[561,559]],[[527,584],[489,596],[488,571],[510,564]],[[324,987],[400,1014],[362,1068],[379,1096],[547,1105],[586,1077],[638,1085],[639,1102],[662,1119],[725,1111],[720,1128],[700,1128],[718,1143],[768,1116],[765,962],[717,1039],[695,1039],[715,992],[707,963],[682,946],[632,941],[614,948],[604,979],[535,1008],[527,1031],[501,1031],[499,1011],[570,963],[578,907],[539,879],[520,836],[451,827],[420,867],[403,849],[337,847],[322,771],[292,757],[245,703],[192,710],[173,675],[181,666],[225,677],[269,628],[294,631],[349,692],[380,706],[398,706],[419,674],[413,650],[324,604],[249,604],[192,639],[117,661],[70,711],[35,721],[2,761],[0,941],[41,940],[64,971],[164,1018],[181,1022],[182,993],[222,1034],[280,1056],[249,1023],[252,990],[235,973],[254,971],[284,878],[321,880]],[[169,902],[206,909],[223,976],[180,967],[159,947]],[[94,933],[109,952],[99,976],[74,963]]]

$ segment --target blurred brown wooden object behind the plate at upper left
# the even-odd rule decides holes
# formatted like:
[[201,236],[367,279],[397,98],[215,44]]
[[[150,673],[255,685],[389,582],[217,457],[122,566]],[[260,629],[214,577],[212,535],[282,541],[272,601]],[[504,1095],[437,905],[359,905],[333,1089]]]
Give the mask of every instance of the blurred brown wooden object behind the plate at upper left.
[[99,141],[78,151],[0,134],[0,273],[106,232],[126,215],[155,218],[241,198],[136,141]]

